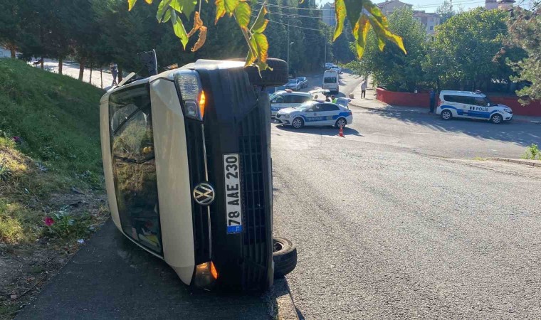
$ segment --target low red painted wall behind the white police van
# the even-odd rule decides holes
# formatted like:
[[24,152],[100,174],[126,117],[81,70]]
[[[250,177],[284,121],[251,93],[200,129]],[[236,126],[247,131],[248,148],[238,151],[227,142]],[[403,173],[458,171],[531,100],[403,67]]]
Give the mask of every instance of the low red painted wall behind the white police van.
[[[518,102],[518,97],[491,97],[490,101],[506,105],[513,109],[513,114],[541,117],[541,101],[534,101],[530,105],[522,106]],[[404,106],[404,107],[430,107],[430,95],[426,92],[409,93],[409,92],[394,92],[377,88],[377,100],[385,102],[389,105]],[[436,105],[438,103],[436,97]]]

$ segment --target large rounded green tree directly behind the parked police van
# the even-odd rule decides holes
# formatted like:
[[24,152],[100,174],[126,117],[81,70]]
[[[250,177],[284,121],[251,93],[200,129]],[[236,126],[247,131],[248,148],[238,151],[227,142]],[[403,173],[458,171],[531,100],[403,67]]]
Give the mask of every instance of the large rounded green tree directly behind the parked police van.
[[423,69],[431,80],[448,89],[490,90],[493,84],[508,85],[505,61],[493,57],[507,36],[508,13],[483,8],[452,16],[429,43]]

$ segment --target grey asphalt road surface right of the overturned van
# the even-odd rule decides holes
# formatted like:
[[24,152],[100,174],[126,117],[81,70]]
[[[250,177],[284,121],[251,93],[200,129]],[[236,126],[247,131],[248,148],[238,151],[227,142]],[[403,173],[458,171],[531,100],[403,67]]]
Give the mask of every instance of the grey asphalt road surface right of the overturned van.
[[[347,93],[347,92],[346,92]],[[301,319],[539,319],[541,126],[356,110],[337,129],[273,125],[274,228]]]

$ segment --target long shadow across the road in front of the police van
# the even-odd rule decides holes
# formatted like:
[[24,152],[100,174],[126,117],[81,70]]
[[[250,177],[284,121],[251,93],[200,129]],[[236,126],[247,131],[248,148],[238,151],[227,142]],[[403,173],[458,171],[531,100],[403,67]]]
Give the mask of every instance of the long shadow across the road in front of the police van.
[[541,126],[539,124],[530,124],[526,122],[505,122],[503,124],[493,124],[485,120],[477,119],[451,119],[445,121],[438,115],[429,114],[428,110],[424,113],[401,111],[400,107],[394,107],[389,110],[372,110],[372,112],[388,119],[399,119],[408,124],[416,124],[440,132],[463,133],[479,139],[500,140],[504,142],[514,142],[522,146],[529,146],[532,143],[539,144],[541,141]]

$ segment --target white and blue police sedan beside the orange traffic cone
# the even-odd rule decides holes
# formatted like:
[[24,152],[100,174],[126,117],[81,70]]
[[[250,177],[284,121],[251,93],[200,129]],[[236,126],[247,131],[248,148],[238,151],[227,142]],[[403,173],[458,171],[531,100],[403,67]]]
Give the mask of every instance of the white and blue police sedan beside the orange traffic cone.
[[345,127],[346,124],[352,124],[353,114],[335,103],[310,101],[298,107],[278,111],[275,121],[295,129],[325,125]]

